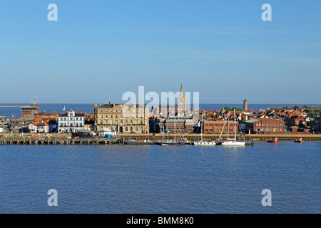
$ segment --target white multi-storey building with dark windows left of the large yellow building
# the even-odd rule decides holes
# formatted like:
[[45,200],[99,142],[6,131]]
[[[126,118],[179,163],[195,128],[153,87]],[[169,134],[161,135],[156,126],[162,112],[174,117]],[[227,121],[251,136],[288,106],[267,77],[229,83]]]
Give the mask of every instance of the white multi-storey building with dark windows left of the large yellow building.
[[84,130],[85,114],[73,110],[63,113],[58,117],[58,133],[76,133]]

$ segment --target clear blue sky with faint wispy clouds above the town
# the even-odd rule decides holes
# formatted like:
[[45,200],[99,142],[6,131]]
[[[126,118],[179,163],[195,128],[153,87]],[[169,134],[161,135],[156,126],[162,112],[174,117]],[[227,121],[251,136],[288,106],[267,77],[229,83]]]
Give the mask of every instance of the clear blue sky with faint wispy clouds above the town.
[[0,3],[0,103],[119,103],[180,83],[200,103],[321,103],[320,0]]

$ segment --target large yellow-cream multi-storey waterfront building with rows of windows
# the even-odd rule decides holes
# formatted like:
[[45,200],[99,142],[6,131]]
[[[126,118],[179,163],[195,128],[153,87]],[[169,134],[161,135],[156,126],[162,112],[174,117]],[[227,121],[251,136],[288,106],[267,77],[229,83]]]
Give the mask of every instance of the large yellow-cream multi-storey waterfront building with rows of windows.
[[[117,133],[149,133],[148,105],[130,105],[126,113],[123,113],[125,104],[95,103],[94,125],[96,132],[102,128],[116,130]],[[127,106],[125,106],[127,107]]]

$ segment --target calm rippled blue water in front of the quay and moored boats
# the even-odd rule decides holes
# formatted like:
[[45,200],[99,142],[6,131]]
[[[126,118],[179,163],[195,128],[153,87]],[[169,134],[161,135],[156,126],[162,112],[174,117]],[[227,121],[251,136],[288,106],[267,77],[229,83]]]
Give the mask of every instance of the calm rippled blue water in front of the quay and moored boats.
[[320,213],[320,148],[1,145],[0,213]]

